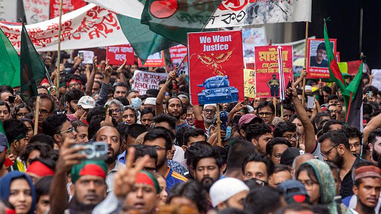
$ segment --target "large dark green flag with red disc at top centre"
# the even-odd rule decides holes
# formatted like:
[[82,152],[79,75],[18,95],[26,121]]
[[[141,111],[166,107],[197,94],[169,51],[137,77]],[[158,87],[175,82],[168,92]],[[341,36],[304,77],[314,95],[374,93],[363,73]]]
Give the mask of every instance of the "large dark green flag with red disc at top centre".
[[146,0],[141,23],[155,33],[187,45],[187,33],[203,31],[221,1]]

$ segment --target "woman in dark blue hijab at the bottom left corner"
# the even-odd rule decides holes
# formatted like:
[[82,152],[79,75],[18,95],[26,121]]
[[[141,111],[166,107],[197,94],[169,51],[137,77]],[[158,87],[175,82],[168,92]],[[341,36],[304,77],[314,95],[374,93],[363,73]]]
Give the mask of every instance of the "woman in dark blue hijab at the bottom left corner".
[[11,171],[0,179],[0,199],[8,202],[16,214],[33,214],[36,191],[28,175]]

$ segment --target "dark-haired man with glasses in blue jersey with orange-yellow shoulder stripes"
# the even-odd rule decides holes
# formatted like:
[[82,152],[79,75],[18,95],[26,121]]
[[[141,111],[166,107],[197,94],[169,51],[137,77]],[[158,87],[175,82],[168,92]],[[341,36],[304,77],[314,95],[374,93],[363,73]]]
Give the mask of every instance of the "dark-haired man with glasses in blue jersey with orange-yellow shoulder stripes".
[[157,172],[165,177],[167,192],[177,183],[187,182],[188,179],[176,173],[167,165],[167,155],[172,153],[173,141],[171,136],[161,128],[150,129],[144,136],[144,145],[153,146],[157,152]]

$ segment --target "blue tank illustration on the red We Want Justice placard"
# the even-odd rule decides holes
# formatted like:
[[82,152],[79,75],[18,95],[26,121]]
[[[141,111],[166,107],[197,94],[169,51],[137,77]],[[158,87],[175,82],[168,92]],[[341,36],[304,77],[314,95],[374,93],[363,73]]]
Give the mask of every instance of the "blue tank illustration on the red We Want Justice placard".
[[197,94],[199,105],[238,102],[238,89],[229,85],[228,76],[210,77],[197,86],[205,87]]

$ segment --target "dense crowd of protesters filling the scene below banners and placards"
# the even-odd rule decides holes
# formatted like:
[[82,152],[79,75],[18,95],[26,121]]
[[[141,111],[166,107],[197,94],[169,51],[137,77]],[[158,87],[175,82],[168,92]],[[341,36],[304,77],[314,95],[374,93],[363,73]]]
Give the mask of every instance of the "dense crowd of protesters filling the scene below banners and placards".
[[[305,69],[283,107],[279,98],[192,106],[174,71],[140,95],[137,65],[75,57],[57,79],[50,54],[59,88],[43,81],[40,99],[24,103],[19,88],[0,86],[0,214],[380,213],[381,91],[368,73],[359,130],[345,125],[335,84],[307,79],[302,97]],[[220,129],[217,109],[227,115]],[[103,156],[88,157],[99,142]]]

